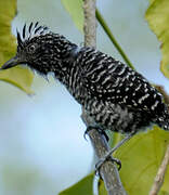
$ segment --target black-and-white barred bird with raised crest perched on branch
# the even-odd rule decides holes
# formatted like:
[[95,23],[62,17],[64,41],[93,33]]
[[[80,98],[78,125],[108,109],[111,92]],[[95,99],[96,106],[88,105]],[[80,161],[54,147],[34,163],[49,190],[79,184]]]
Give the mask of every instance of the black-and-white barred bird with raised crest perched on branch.
[[38,23],[25,25],[22,35],[17,31],[17,53],[1,69],[17,64],[44,76],[53,73],[92,117],[94,127],[127,134],[115,148],[153,123],[169,130],[168,107],[142,75],[93,48],[79,48]]

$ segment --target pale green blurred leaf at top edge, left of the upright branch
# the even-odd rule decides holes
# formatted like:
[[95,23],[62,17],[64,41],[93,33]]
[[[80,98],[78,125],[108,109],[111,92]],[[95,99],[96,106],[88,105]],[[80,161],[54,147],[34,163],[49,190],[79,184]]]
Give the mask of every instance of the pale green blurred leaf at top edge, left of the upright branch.
[[61,0],[62,4],[66,11],[72,16],[77,28],[83,31],[83,11],[82,11],[82,0]]

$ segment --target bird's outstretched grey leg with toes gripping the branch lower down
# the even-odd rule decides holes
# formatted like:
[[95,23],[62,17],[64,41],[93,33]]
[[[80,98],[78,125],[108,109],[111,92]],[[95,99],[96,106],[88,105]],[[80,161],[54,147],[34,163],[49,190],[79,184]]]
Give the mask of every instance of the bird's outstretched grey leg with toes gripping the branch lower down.
[[121,140],[115,147],[113,147],[103,158],[101,158],[98,164],[95,165],[95,172],[98,172],[100,174],[100,168],[102,167],[102,165],[106,161],[106,160],[112,160],[114,162],[116,162],[119,167],[118,170],[121,168],[121,162],[119,159],[112,157],[112,154],[118,148],[120,147],[123,143],[126,143],[127,141],[129,141],[132,135],[135,132],[131,132],[130,134],[126,135],[126,138],[123,140]]

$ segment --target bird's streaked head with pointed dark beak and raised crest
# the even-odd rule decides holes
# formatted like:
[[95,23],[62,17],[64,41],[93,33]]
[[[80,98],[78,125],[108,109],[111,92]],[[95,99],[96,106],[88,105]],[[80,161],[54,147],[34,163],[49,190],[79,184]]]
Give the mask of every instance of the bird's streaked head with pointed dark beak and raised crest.
[[4,63],[1,69],[16,65],[27,65],[39,74],[47,75],[63,68],[63,61],[69,58],[77,46],[64,36],[53,34],[46,26],[31,23],[17,31],[17,52],[14,57]]

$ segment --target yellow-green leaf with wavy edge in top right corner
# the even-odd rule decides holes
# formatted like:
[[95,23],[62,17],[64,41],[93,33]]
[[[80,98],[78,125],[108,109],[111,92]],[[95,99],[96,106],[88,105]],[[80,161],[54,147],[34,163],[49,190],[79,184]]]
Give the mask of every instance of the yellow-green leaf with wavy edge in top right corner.
[[152,0],[145,18],[161,42],[160,69],[169,78],[169,0]]

